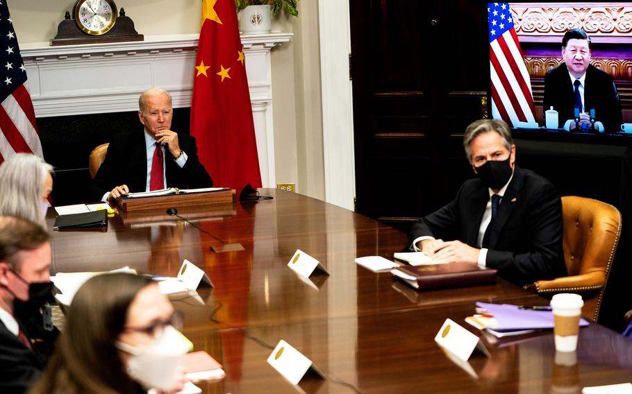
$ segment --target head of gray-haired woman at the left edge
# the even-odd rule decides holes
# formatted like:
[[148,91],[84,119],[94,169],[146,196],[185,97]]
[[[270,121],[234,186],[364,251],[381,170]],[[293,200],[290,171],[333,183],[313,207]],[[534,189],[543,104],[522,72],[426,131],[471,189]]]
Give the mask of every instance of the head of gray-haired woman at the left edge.
[[53,166],[31,153],[16,153],[0,165],[0,214],[44,226],[53,190]]

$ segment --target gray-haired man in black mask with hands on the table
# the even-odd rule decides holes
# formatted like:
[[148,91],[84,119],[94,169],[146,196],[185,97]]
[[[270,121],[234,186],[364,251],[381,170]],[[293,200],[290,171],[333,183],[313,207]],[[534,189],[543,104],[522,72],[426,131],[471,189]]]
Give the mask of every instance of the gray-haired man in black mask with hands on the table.
[[475,121],[463,145],[478,178],[413,225],[411,246],[438,262],[497,269],[520,285],[567,275],[560,196],[549,181],[515,165],[507,123]]

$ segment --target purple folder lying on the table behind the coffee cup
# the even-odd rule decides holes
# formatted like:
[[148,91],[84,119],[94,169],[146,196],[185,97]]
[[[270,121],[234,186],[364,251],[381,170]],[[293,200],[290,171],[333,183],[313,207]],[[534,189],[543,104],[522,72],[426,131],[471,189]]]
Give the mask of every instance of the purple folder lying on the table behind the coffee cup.
[[[476,302],[476,306],[488,311],[496,321],[496,331],[514,331],[517,329],[546,329],[553,328],[553,311],[532,311],[518,309],[517,305],[510,304],[486,304]],[[579,326],[585,327],[588,321],[579,320]]]

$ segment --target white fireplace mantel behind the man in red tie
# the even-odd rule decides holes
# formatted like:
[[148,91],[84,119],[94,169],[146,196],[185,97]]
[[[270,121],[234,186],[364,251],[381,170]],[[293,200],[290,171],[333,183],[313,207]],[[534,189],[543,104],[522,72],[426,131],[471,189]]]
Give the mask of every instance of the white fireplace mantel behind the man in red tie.
[[[261,180],[276,185],[270,50],[292,33],[242,35]],[[49,46],[26,44],[22,58],[35,116],[138,110],[150,87],[172,94],[174,108],[191,105],[198,35],[147,36],[142,42]]]

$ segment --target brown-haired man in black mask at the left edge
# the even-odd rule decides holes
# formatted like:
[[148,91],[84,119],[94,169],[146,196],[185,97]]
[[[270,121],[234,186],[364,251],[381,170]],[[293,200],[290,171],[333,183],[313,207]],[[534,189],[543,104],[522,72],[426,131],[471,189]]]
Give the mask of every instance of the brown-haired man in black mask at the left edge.
[[50,266],[49,234],[31,221],[0,216],[0,393],[26,391],[44,368],[44,348],[56,339],[40,311],[52,296]]

